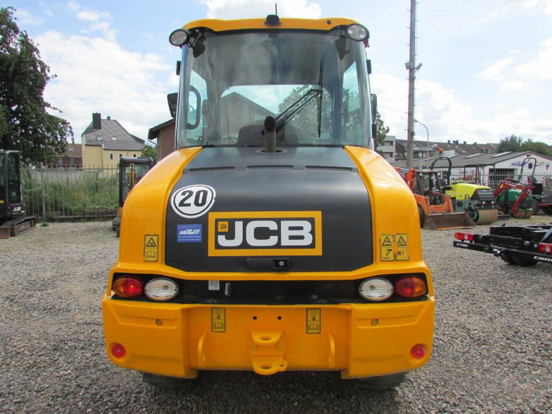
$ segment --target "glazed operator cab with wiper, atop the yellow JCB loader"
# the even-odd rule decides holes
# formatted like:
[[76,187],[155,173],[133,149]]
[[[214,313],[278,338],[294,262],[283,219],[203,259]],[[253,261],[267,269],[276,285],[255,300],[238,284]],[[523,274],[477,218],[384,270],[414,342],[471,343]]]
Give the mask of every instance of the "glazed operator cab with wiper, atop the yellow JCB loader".
[[373,148],[368,30],[344,19],[302,30],[286,26],[300,19],[274,18],[258,30],[190,23],[173,32],[184,37],[177,149],[262,147],[266,122],[279,147]]

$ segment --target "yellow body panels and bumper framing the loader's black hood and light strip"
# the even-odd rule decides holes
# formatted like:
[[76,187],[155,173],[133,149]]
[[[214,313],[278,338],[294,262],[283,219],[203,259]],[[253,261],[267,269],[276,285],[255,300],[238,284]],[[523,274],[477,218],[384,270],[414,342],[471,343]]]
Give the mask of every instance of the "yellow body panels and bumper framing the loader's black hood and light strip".
[[[170,188],[201,148],[173,152],[141,179],[126,200],[119,261],[103,297],[106,349],[124,368],[193,378],[198,370],[341,371],[343,378],[411,371],[431,355],[435,299],[422,259],[416,204],[402,178],[375,152],[346,147],[372,195],[371,266],[337,273],[191,273],[164,265],[166,206]],[[152,246],[153,238],[155,246]],[[397,235],[404,244],[397,244]],[[150,242],[146,243],[149,240]],[[391,240],[392,246],[383,246]],[[337,305],[169,304],[117,300],[115,275],[160,275],[197,280],[347,280],[380,275],[424,274],[428,299],[396,303]],[[122,344],[123,357],[110,348]],[[411,355],[426,347],[422,359]]]

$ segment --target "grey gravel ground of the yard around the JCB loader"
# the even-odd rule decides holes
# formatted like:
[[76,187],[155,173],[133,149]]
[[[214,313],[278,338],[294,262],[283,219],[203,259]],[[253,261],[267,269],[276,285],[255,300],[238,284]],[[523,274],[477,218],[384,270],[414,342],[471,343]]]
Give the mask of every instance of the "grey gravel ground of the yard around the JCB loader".
[[453,230],[422,236],[437,296],[433,356],[383,393],[335,373],[247,372],[157,391],[103,348],[100,300],[118,244],[110,223],[0,240],[0,412],[552,413],[552,266],[453,248]]

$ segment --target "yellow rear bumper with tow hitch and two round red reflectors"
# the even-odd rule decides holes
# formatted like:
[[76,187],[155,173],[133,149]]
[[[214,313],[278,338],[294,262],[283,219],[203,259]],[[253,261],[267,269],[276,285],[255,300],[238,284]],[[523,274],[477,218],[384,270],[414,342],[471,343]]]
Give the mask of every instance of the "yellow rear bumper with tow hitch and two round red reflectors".
[[[121,367],[173,377],[198,370],[341,371],[370,377],[423,366],[435,302],[333,306],[206,306],[104,297],[106,350]],[[113,344],[126,350],[111,354]],[[422,359],[411,355],[426,346]]]

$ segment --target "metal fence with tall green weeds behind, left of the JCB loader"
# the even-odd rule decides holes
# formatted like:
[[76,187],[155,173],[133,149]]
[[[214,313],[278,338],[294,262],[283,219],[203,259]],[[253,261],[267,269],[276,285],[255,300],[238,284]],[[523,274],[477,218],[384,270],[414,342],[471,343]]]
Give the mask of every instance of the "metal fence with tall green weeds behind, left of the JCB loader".
[[117,168],[28,168],[21,170],[28,215],[43,220],[115,217]]

